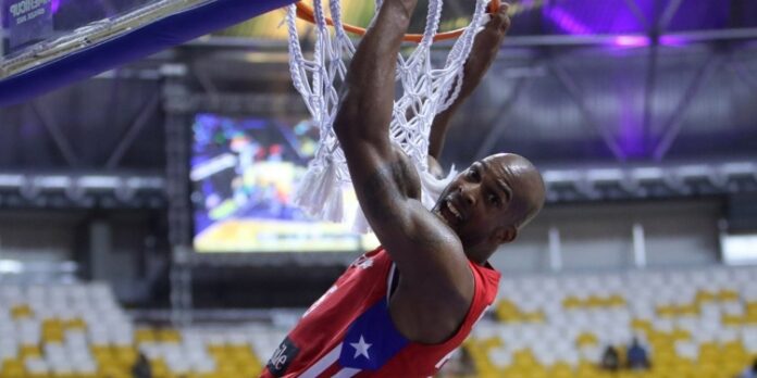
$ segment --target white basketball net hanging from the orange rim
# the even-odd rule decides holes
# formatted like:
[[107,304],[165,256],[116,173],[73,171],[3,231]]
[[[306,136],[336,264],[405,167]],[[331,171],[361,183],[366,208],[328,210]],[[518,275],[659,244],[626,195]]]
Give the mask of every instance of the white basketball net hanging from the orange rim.
[[[376,1],[376,10],[382,1]],[[310,114],[320,128],[319,148],[295,194],[295,203],[320,219],[344,222],[344,190],[351,190],[347,162],[332,125],[338,110],[337,86],[344,83],[347,64],[355,46],[347,36],[340,16],[339,1],[330,1],[334,33],[326,24],[323,3],[313,0],[315,18],[312,60],[306,59],[295,26],[296,8],[289,7],[289,68],[295,88],[302,96]],[[473,46],[479,28],[486,22],[486,1],[477,0],[470,25],[456,40],[440,67],[432,64],[431,46],[442,15],[442,0],[429,1],[423,38],[407,56],[397,58],[397,81],[401,96],[395,100],[389,134],[392,141],[410,156],[421,178],[423,203],[431,207],[444,184],[429,173],[429,136],[437,113],[457,98],[462,80],[462,67]],[[376,12],[377,13],[377,12]],[[375,18],[374,18],[375,20]],[[371,22],[373,24],[373,22]],[[451,91],[451,92],[450,92]],[[361,125],[355,125],[360,127]],[[450,173],[450,176],[454,173]],[[449,178],[449,177],[448,177]],[[362,214],[355,216],[355,228],[368,230]]]

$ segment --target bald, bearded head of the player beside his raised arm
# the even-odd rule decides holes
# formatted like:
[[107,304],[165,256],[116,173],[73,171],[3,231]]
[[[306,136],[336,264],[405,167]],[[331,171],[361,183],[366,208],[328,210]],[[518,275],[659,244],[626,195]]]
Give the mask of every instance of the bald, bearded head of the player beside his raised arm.
[[483,262],[538,213],[544,192],[542,175],[531,162],[496,154],[461,172],[432,212],[458,235],[469,259]]

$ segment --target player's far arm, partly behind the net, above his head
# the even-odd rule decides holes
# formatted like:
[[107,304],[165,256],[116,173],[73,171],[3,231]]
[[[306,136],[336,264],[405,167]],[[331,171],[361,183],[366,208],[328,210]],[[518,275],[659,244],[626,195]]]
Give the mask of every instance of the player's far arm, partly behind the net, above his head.
[[510,18],[507,15],[508,4],[502,2],[497,13],[492,14],[492,20],[484,26],[473,41],[473,48],[463,67],[463,79],[460,93],[444,112],[436,115],[431,126],[431,138],[429,142],[429,156],[432,166],[442,155],[445,136],[452,116],[460,105],[473,93],[479,86],[492,63],[497,58],[499,47],[505,39],[507,30],[510,28]]

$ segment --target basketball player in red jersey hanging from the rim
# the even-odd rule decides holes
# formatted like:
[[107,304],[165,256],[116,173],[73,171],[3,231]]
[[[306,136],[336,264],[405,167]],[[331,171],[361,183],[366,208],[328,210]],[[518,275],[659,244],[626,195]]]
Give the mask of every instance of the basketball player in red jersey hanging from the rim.
[[[395,65],[418,0],[384,0],[352,60],[334,129],[360,205],[382,247],[358,259],[302,316],[263,377],[429,377],[494,301],[488,257],[541,210],[544,184],[525,159],[496,154],[449,184],[432,211],[420,179],[389,141]],[[481,32],[461,96],[435,121],[438,156],[455,108],[494,60],[507,7]]]

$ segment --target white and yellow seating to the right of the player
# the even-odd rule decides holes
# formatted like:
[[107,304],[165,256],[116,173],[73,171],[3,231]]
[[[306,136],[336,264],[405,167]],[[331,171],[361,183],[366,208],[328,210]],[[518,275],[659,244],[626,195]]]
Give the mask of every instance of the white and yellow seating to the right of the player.
[[[757,357],[757,269],[504,277],[494,317],[464,345],[481,377],[730,378]],[[651,370],[597,368],[634,336]]]

